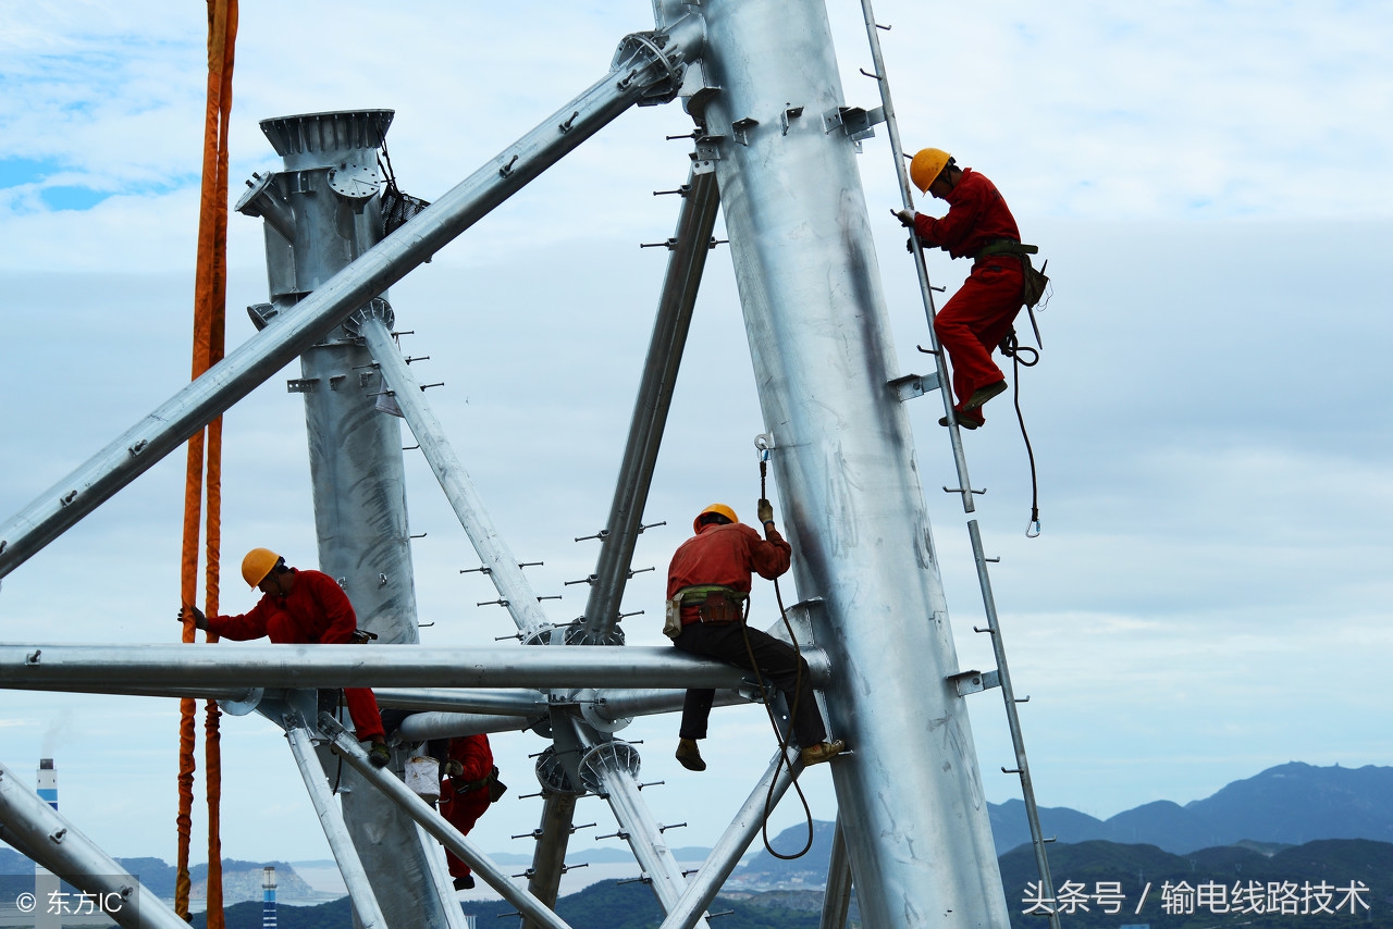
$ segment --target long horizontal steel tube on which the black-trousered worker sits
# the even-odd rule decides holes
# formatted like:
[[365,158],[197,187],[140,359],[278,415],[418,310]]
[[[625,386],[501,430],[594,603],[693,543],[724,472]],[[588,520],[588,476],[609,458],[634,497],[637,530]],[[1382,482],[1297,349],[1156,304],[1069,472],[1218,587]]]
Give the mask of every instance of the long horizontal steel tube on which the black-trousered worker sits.
[[[826,656],[804,650],[814,681]],[[816,663],[814,659],[818,659]],[[0,645],[0,688],[107,681],[148,687],[716,687],[742,671],[664,646]]]

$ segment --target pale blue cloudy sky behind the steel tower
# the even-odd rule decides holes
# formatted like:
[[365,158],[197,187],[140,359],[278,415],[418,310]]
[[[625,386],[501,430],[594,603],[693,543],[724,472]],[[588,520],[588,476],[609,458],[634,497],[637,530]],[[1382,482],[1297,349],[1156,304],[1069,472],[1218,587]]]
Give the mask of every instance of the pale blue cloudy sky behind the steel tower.
[[[1393,10],[1379,3],[878,4],[901,135],[1002,189],[1049,259],[1045,352],[1021,375],[1043,533],[1007,397],[965,436],[1025,744],[1043,806],[1110,816],[1188,802],[1289,760],[1393,765],[1385,241],[1393,234]],[[878,106],[858,4],[829,15],[850,104]],[[0,511],[13,514],[188,379],[202,146],[201,6],[0,0]],[[435,199],[605,72],[646,3],[380,4],[242,0],[231,174],[277,167],[260,118],[391,107],[401,187]],[[305,47],[311,46],[311,47]],[[553,620],[593,570],[598,531],[687,173],[678,106],[634,110],[391,291],[428,398]],[[928,344],[883,128],[859,156],[904,372]],[[233,198],[238,192],[234,189]],[[933,203],[926,212],[936,212]],[[228,344],[266,299],[259,223],[233,214]],[[708,265],[670,443],[624,609],[659,645],[662,570],[710,500],[747,515],[765,430],[727,251]],[[964,262],[931,256],[949,292]],[[719,372],[720,377],[712,377]],[[228,412],[223,604],[252,606],[241,552],[313,565],[291,365]],[[1007,372],[1014,383],[1015,373]],[[911,421],[960,663],[989,669],[982,604],[937,398]],[[412,444],[405,440],[403,444]],[[677,450],[674,450],[677,448]],[[513,625],[425,461],[407,453],[425,643],[493,645]],[[173,642],[182,455],[171,455],[4,578],[3,642]],[[776,500],[777,501],[777,500]],[[752,514],[748,514],[752,515]],[[748,517],[747,517],[748,518]],[[791,582],[787,586],[793,586]],[[788,596],[788,591],[786,591]],[[756,588],[756,617],[775,620]],[[986,795],[1018,797],[999,692],[970,701]],[[645,791],[674,844],[710,844],[773,751],[759,708],[720,710],[703,774],[641,720]],[[493,740],[511,786],[475,830],[492,851],[538,822],[534,735]],[[227,719],[223,848],[309,859],[327,847],[284,740]],[[174,858],[177,706],[7,691],[0,763],[57,759],[63,811],[110,854]],[[834,816],[826,770],[805,790]],[[702,811],[702,816],[692,811]],[[729,812],[727,812],[729,811]],[[582,801],[579,822],[607,809]],[[786,801],[781,829],[800,822]],[[612,830],[610,830],[612,832]],[[671,837],[671,836],[670,836]],[[578,834],[574,848],[616,845]],[[195,855],[196,857],[196,855]]]

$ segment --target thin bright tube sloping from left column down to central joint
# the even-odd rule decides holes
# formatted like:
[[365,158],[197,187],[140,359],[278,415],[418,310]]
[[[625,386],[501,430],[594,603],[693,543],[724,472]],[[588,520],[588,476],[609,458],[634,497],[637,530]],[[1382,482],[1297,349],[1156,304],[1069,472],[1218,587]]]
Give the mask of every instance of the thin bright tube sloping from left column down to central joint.
[[426,403],[421,384],[380,319],[369,319],[362,327],[362,336],[368,340],[373,361],[380,366],[383,380],[391,389],[407,425],[411,426],[411,435],[421,444],[421,451],[430,462],[440,489],[454,507],[460,525],[464,526],[474,550],[488,568],[489,579],[507,600],[508,616],[517,623],[525,639],[532,638],[547,625],[546,613],[536,600],[536,591],[518,567],[513,550],[499,536],[493,520],[483,507],[483,499],[469,479],[469,472],[460,464],[454,448],[450,447],[450,440],[430,404]]

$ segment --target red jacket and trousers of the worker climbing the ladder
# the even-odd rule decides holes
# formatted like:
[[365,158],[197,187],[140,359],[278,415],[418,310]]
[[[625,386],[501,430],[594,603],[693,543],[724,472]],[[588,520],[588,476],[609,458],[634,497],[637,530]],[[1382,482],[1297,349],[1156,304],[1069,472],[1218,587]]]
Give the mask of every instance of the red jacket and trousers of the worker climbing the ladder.
[[[1002,238],[1021,241],[1015,217],[1000,191],[972,169],[963,169],[963,177],[944,199],[949,214],[943,219],[922,213],[914,217],[915,234],[929,245],[946,249],[953,258],[964,258],[975,256]],[[1021,259],[990,255],[974,262],[972,274],[935,319],[933,330],[953,362],[953,393],[958,398],[960,418],[981,423],[981,409],[964,414],[963,403],[976,390],[1004,380],[992,361],[992,350],[1021,312],[1024,290]]]

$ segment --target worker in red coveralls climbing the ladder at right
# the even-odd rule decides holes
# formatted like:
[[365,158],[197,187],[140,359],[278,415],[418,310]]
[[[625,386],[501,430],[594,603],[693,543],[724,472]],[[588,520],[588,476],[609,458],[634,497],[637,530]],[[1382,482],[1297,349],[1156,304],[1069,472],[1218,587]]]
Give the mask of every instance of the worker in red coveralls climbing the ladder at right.
[[[910,180],[921,192],[947,201],[947,216],[890,212],[925,245],[972,258],[972,273],[937,315],[933,330],[953,362],[954,416],[964,429],[976,429],[983,422],[982,404],[1006,390],[992,348],[1011,331],[1024,305],[1021,255],[1035,247],[1021,245],[1015,217],[996,185],[970,167],[960,169],[947,152],[922,149],[910,163]],[[949,425],[947,416],[939,425]]]

